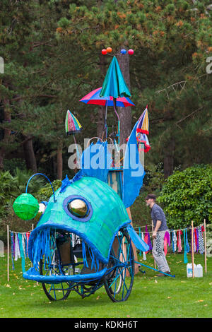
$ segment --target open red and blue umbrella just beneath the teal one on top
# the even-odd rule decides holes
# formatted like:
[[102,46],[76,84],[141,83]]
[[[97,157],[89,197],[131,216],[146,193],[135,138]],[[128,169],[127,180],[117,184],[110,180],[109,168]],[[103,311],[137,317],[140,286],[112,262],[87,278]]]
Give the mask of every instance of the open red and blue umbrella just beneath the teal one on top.
[[[114,105],[114,98],[111,96],[104,96],[100,97],[101,88],[95,89],[85,95],[80,102],[85,102],[86,104],[93,104],[93,105],[102,105],[102,106],[113,106]],[[128,106],[135,106],[134,103],[129,99],[129,97],[118,97],[115,100],[115,104],[117,107],[128,107]]]

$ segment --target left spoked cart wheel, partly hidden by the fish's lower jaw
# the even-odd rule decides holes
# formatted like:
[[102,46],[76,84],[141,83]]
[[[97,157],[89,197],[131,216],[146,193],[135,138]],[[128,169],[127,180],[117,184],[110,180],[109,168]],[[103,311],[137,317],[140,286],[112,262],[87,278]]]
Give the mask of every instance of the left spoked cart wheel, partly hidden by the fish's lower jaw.
[[[43,268],[43,263],[40,261],[40,275],[64,275],[68,268],[59,267],[56,263],[54,266],[49,265],[46,267],[46,270]],[[45,272],[45,273],[44,273]],[[50,301],[59,301],[66,300],[69,296],[71,290],[69,290],[69,285],[67,283],[59,283],[59,284],[47,284],[42,283],[42,288],[45,291],[45,295],[47,295]]]

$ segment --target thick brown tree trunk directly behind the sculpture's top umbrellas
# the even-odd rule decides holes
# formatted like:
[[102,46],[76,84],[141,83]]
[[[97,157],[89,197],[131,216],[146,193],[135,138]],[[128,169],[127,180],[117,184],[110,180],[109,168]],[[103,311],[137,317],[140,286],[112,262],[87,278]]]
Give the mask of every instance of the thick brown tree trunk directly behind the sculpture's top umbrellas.
[[[124,81],[130,90],[129,54],[117,56]],[[131,107],[117,107],[120,118],[120,145],[126,143],[126,138],[131,134]]]

